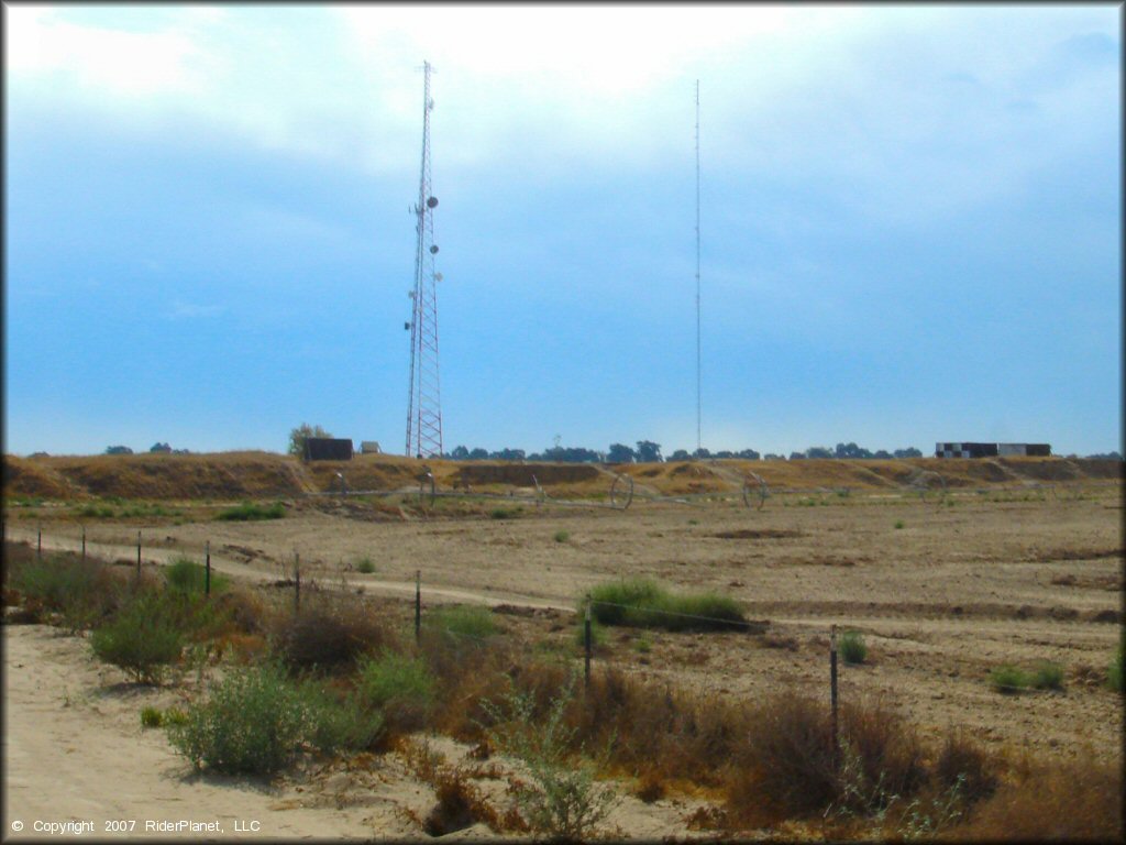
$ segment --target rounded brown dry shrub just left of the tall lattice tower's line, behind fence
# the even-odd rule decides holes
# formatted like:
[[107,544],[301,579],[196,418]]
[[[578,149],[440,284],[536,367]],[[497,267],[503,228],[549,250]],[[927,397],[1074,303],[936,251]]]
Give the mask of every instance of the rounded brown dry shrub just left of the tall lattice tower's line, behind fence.
[[270,624],[274,651],[291,670],[348,669],[361,655],[394,642],[383,620],[345,596],[321,597]]

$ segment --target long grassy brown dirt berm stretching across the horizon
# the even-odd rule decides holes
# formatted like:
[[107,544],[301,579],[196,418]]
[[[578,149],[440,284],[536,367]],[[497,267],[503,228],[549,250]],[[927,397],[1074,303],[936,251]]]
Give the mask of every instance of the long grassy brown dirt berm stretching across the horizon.
[[[1061,457],[903,461],[714,461],[625,464],[626,472],[663,495],[738,490],[751,473],[771,489],[908,489],[926,474],[948,488],[1026,486],[1120,480],[1120,461]],[[214,454],[3,457],[6,498],[73,500],[105,497],[150,500],[288,498],[337,491],[340,477],[351,491],[417,487],[429,471],[439,488],[534,487],[598,496],[610,475],[593,464],[417,461],[395,455],[357,455],[351,461],[304,463],[271,452]]]

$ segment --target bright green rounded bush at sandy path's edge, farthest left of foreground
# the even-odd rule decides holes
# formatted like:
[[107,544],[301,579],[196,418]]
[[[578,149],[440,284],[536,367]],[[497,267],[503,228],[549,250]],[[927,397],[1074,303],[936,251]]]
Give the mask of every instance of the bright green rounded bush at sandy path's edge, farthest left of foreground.
[[185,642],[166,610],[158,596],[133,599],[90,635],[93,653],[138,683],[160,683],[164,667],[180,659]]

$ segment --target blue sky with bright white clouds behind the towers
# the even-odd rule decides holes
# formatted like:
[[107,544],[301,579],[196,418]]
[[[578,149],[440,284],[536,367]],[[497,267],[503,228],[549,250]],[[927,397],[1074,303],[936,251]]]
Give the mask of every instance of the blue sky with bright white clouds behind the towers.
[[[5,3],[5,452],[1123,452],[1116,5]],[[697,382],[697,83],[700,379]]]

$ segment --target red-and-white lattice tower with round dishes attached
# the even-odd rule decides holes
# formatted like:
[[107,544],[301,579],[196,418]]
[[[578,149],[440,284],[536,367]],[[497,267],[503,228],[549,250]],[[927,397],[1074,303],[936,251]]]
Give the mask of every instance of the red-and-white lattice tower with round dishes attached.
[[423,62],[422,169],[419,201],[413,213],[418,219],[414,249],[414,287],[410,292],[411,385],[406,400],[406,456],[441,455],[441,391],[438,382],[438,292],[441,274],[435,273],[434,210],[438,199],[430,193],[430,63]]

